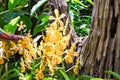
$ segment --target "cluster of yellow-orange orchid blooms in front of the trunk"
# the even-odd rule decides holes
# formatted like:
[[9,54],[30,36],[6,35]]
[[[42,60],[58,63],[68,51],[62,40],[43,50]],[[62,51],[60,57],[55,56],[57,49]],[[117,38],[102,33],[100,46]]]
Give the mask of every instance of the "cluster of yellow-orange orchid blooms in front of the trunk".
[[[32,69],[31,64],[33,60],[38,60],[40,57],[40,66],[36,69],[36,80],[44,78],[44,71],[49,69],[50,75],[54,75],[54,71],[58,70],[59,64],[63,62],[73,63],[73,57],[78,56],[78,53],[74,51],[76,43],[74,43],[70,49],[68,49],[69,41],[71,37],[71,31],[66,33],[68,26],[68,19],[66,23],[61,20],[65,17],[65,14],[59,16],[59,11],[54,10],[55,17],[50,16],[49,20],[53,22],[46,28],[45,33],[42,33],[42,41],[40,45],[33,41],[30,33],[27,37],[19,40],[17,43],[10,41],[9,45],[6,41],[2,41],[0,54],[0,64],[4,63],[4,59],[9,60],[11,55],[19,53],[21,57],[21,73],[24,73],[26,68]],[[76,65],[73,69],[75,74],[78,73],[79,59],[76,61]]]

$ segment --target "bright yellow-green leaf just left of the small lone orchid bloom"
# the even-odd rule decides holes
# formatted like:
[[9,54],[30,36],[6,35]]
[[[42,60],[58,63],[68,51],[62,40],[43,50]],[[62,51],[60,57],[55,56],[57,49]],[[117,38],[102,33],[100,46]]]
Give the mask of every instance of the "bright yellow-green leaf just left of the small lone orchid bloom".
[[17,29],[17,23],[20,20],[20,16],[12,19],[7,25],[4,26],[4,31],[11,32],[12,34],[16,31]]

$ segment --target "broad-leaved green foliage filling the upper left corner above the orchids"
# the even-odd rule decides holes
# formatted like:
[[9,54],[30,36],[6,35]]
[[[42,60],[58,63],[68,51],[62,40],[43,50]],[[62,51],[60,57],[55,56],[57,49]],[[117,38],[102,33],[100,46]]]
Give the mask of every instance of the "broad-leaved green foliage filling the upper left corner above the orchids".
[[[1,0],[0,28],[12,34],[23,35],[29,30],[32,35],[40,33],[48,23],[48,10],[44,6],[46,2],[47,0],[34,1],[34,3],[29,0]],[[23,21],[26,27],[18,31],[17,24],[20,21]]]

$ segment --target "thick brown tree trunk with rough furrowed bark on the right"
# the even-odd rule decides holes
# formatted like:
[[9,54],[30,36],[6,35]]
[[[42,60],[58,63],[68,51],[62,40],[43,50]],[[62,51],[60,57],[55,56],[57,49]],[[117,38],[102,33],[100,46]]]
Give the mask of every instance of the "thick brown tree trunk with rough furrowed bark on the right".
[[82,74],[120,73],[120,0],[94,0],[91,33],[82,48]]

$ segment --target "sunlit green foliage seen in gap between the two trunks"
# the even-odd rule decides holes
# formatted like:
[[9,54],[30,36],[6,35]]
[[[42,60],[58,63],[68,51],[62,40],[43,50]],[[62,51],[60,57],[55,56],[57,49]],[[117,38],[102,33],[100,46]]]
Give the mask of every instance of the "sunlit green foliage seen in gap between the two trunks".
[[79,36],[90,31],[93,2],[91,0],[67,0],[72,25]]

